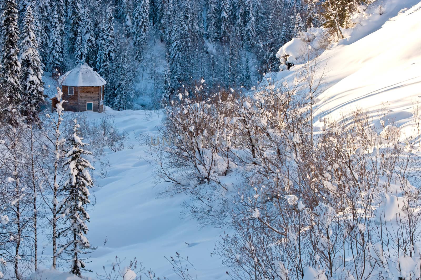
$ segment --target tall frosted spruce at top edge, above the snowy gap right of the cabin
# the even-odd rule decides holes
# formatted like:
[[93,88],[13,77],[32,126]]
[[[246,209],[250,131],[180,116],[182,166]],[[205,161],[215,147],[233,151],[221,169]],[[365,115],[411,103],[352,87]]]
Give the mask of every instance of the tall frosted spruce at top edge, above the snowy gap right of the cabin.
[[135,59],[141,60],[147,48],[149,32],[149,0],[136,0],[133,10],[133,46]]

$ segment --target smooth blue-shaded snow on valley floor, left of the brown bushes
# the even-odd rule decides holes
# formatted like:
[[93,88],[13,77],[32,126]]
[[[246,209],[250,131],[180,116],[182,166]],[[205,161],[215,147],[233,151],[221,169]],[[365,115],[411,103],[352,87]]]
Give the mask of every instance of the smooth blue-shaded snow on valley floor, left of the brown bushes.
[[[149,113],[149,112],[148,112]],[[110,114],[108,111],[107,114]],[[162,115],[144,111],[111,112],[115,124],[125,129],[136,142],[135,135],[155,132]],[[88,113],[89,118],[103,114]],[[136,145],[133,149],[111,152],[101,160],[108,159],[111,170],[108,178],[99,178],[96,172],[96,205],[91,212],[89,238],[99,248],[91,254],[89,268],[101,272],[102,266],[111,266],[115,256],[136,259],[157,276],[171,276],[171,265],[164,256],[174,256],[176,251],[195,266],[197,279],[218,279],[225,274],[217,257],[210,252],[221,229],[197,228],[189,217],[181,220],[181,203],[186,196],[172,198],[157,196],[163,186],[155,186],[152,167],[147,161],[146,147]],[[99,162],[96,162],[99,166]],[[104,240],[108,239],[104,245]]]

